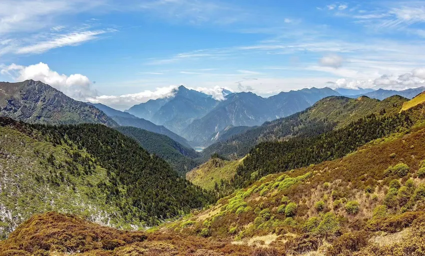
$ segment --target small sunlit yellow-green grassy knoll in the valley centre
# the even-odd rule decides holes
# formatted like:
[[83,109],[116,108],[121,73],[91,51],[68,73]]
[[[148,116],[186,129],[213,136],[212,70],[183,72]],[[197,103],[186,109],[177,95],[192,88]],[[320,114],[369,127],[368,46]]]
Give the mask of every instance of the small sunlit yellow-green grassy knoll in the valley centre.
[[236,173],[236,168],[243,163],[243,158],[235,161],[225,161],[219,158],[208,162],[186,173],[186,179],[194,185],[206,190],[213,190],[220,180],[229,181]]

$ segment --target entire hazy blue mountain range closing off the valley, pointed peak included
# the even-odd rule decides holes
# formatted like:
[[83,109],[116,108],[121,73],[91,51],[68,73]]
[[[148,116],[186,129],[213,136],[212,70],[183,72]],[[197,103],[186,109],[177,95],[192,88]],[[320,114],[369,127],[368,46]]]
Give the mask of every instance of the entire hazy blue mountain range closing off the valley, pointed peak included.
[[184,86],[168,98],[149,100],[126,112],[164,125],[189,141],[192,146],[207,146],[228,126],[255,126],[287,116],[311,106],[317,100],[339,95],[330,88],[311,88],[281,92],[263,98],[252,92],[230,93],[223,90],[224,100]]

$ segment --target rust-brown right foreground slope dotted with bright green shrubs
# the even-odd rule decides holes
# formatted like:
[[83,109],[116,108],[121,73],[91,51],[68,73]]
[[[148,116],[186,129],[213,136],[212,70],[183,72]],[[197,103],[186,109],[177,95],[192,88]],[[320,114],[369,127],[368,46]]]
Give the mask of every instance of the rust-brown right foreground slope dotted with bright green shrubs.
[[[167,228],[191,235],[205,229],[211,237],[230,237],[245,244],[255,237],[275,234],[275,247],[285,248],[285,242],[293,240],[291,246],[299,252],[307,250],[303,243],[312,243],[309,250],[315,250],[314,241],[326,238],[332,242],[341,233],[362,230],[373,236],[370,231],[400,231],[425,216],[425,180],[417,176],[425,160],[424,134],[424,128],[416,127],[409,134],[375,140],[341,159],[268,175]],[[385,174],[388,166],[399,162],[409,167],[406,175]],[[385,198],[392,180],[405,186],[391,201]],[[319,201],[323,202],[320,211],[316,209]],[[359,203],[358,213],[347,213],[347,201]],[[293,216],[284,212],[288,202],[297,205]],[[373,216],[375,207],[382,205],[389,207],[380,216]]]

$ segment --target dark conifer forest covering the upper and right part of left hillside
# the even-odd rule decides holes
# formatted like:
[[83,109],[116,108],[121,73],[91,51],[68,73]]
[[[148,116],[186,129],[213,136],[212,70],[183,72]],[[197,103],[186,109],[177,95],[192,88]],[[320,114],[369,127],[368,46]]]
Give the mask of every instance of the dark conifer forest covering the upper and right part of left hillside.
[[[54,168],[49,176],[36,177],[39,183],[66,183],[72,188],[71,176],[90,175],[95,166],[104,168],[107,180],[95,186],[106,195],[106,204],[118,209],[115,214],[128,221],[152,225],[213,201],[211,195],[181,178],[164,160],[104,125],[48,126],[0,117],[0,126],[11,127],[54,147],[66,145],[72,149],[67,151],[72,161],[56,159],[53,154],[47,156],[47,163]],[[83,168],[76,168],[77,165]]]

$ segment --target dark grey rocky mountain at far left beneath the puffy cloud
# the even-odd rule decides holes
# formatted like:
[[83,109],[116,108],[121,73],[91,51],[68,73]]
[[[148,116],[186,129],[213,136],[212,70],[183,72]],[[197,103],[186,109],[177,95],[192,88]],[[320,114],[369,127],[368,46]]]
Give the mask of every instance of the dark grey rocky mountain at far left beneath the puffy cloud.
[[28,123],[100,123],[116,126],[102,111],[40,81],[0,82],[0,116]]

